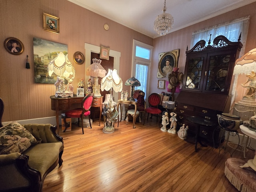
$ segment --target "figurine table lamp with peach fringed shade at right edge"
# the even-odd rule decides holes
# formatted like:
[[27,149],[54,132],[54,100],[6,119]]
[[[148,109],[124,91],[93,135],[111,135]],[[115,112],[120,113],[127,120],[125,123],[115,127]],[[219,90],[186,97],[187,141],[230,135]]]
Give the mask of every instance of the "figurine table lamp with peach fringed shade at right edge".
[[[248,80],[241,84],[247,88],[246,94],[242,100],[235,103],[233,114],[241,117],[241,120],[249,120],[251,116],[255,115],[256,102],[256,48],[250,50],[241,58],[236,60],[234,67],[234,74],[246,74]],[[250,82],[248,85],[246,85]]]

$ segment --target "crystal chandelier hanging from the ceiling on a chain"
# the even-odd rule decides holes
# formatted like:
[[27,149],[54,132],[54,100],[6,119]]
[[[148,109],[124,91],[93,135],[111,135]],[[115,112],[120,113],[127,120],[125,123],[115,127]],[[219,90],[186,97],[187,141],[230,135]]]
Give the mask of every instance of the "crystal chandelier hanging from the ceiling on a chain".
[[171,14],[165,13],[166,12],[166,0],[164,0],[164,7],[162,9],[162,14],[156,17],[154,22],[154,30],[160,35],[166,35],[168,31],[173,27],[174,20]]

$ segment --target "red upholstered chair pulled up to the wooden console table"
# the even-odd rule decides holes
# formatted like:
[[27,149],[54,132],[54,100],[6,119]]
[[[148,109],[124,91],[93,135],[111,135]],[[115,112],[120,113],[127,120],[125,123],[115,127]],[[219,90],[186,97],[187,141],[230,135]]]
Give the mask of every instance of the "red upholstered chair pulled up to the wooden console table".
[[[92,128],[92,125],[91,125],[91,120],[90,120],[90,108],[92,106],[92,101],[93,101],[93,96],[94,94],[91,93],[91,94],[88,94],[87,96],[84,97],[83,101],[82,101],[82,108],[77,108],[77,109],[74,109],[74,110],[70,110],[68,112],[66,112],[65,114],[65,117],[64,117],[64,123],[65,123],[65,126],[66,128],[68,127],[67,126],[67,122],[66,122],[66,118],[78,118],[78,124],[79,124],[79,118],[81,118],[81,125],[82,125],[82,132],[84,134],[84,116],[88,116],[89,118],[89,123],[90,123],[90,127]],[[66,131],[66,128],[63,132]]]

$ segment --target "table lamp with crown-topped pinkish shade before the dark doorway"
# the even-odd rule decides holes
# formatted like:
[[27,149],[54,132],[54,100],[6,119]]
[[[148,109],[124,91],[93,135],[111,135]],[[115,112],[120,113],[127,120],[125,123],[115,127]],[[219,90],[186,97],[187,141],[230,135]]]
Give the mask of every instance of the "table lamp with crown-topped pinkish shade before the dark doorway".
[[106,70],[100,64],[102,60],[93,58],[92,64],[86,68],[86,75],[94,77],[94,85],[92,86],[92,92],[94,96],[99,97],[100,94],[100,85],[98,84],[98,77],[104,77],[106,75]]

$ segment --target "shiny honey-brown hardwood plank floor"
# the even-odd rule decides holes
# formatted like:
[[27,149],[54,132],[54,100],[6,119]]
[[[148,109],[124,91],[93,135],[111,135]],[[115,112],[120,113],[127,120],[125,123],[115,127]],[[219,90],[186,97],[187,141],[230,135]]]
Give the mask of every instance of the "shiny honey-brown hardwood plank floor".
[[[73,124],[72,131],[61,132],[63,165],[46,176],[43,192],[237,191],[224,176],[229,152],[200,145],[195,152],[193,143],[162,132],[154,117],[135,129],[132,122],[115,126],[113,134],[104,134],[98,121],[84,135]],[[247,159],[253,156],[249,150]]]

